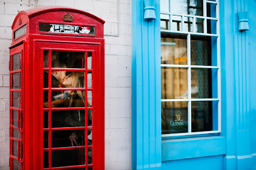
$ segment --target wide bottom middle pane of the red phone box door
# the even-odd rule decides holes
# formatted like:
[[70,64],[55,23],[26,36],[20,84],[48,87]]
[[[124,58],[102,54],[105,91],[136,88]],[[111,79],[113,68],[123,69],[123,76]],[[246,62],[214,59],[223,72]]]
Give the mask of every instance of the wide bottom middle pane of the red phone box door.
[[52,151],[52,167],[85,165],[85,149]]

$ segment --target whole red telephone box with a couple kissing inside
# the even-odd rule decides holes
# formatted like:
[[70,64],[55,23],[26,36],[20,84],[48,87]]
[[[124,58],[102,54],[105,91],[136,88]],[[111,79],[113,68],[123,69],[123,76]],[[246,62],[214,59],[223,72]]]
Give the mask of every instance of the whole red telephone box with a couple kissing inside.
[[10,169],[104,169],[104,21],[21,11],[10,46]]

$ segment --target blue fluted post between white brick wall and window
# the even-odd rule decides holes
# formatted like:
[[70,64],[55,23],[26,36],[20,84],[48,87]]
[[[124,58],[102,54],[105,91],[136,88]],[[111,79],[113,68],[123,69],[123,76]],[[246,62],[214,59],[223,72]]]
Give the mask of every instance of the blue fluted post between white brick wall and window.
[[133,169],[161,169],[160,0],[132,0]]

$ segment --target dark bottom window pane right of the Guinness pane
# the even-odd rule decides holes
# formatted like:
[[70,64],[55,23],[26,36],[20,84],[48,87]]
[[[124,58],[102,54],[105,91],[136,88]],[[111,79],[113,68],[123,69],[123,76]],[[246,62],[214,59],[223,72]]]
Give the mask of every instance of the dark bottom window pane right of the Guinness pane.
[[192,101],[191,116],[192,132],[212,131],[212,101]]

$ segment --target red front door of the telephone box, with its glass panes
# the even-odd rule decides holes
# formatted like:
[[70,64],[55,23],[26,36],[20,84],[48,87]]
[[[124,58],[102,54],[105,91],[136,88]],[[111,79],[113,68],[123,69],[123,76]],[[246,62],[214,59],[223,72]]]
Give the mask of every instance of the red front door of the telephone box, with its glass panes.
[[34,104],[40,113],[34,115],[40,120],[34,134],[40,169],[104,169],[100,54],[100,44],[36,42],[34,77],[41,81],[34,81],[40,96]]

